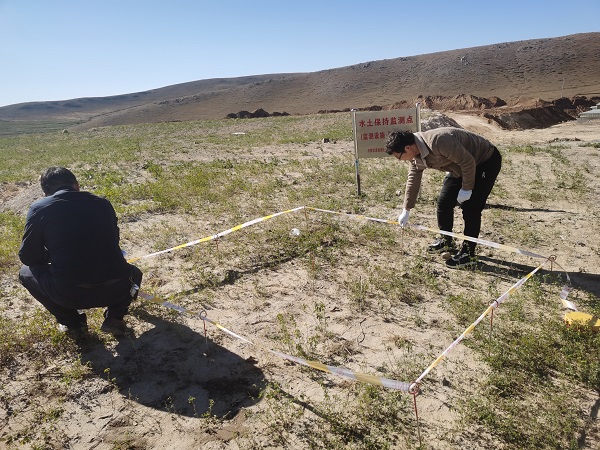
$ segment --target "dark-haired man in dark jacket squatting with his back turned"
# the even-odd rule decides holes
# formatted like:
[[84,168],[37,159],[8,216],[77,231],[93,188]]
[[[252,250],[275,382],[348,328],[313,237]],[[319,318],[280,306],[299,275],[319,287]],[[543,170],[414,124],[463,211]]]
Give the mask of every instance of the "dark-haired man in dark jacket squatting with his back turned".
[[80,310],[106,307],[101,330],[126,334],[123,318],[137,297],[142,272],[123,256],[112,205],[80,191],[75,175],[63,167],[47,169],[40,183],[46,197],[27,213],[19,250],[21,284],[56,317],[61,331],[85,332]]

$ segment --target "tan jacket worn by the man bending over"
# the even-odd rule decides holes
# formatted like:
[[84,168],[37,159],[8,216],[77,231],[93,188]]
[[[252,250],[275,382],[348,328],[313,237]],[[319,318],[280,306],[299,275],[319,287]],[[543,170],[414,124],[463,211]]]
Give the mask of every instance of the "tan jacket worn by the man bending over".
[[450,172],[452,177],[462,177],[462,188],[472,190],[476,166],[487,161],[496,148],[478,134],[452,127],[415,133],[415,143],[420,155],[409,163],[405,209],[414,208],[425,169],[437,169]]

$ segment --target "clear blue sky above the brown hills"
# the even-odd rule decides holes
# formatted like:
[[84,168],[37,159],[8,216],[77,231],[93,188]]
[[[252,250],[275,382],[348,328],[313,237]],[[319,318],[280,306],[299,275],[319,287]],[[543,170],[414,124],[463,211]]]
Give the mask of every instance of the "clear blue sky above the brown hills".
[[0,106],[600,31],[600,0],[0,0]]

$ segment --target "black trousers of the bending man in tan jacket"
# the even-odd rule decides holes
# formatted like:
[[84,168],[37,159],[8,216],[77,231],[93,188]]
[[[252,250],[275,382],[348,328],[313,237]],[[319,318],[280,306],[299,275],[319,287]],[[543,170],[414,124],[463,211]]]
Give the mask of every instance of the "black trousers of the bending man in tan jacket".
[[[465,229],[465,236],[479,237],[481,231],[481,213],[487,198],[492,192],[500,168],[502,167],[502,155],[498,149],[495,149],[492,156],[485,162],[479,164],[475,173],[475,186],[471,198],[461,205]],[[462,178],[453,178],[446,175],[444,184],[440,191],[437,203],[438,227],[442,231],[452,231],[454,225],[454,207],[456,206],[456,197],[458,191],[462,188]],[[477,244],[471,241],[463,243],[463,251],[475,255],[475,246]]]

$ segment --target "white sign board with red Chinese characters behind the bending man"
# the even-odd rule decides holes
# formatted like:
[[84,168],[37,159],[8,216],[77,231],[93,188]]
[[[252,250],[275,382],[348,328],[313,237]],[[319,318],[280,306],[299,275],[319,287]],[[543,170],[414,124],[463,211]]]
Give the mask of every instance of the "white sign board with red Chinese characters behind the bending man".
[[353,111],[356,159],[388,156],[385,143],[392,131],[420,131],[419,106],[390,111]]

